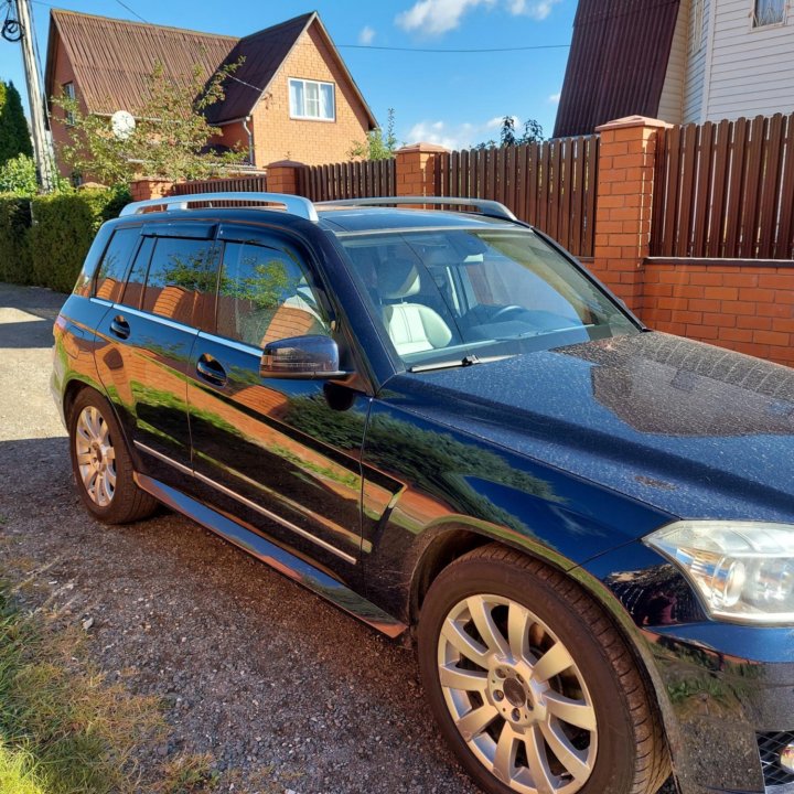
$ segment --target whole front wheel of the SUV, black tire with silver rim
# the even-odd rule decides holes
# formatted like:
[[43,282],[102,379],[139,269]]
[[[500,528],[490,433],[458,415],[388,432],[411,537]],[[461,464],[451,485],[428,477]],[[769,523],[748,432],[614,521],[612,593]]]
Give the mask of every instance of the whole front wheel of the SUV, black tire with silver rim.
[[489,794],[651,794],[669,774],[625,642],[537,560],[493,545],[452,562],[422,604],[418,655],[442,734]]

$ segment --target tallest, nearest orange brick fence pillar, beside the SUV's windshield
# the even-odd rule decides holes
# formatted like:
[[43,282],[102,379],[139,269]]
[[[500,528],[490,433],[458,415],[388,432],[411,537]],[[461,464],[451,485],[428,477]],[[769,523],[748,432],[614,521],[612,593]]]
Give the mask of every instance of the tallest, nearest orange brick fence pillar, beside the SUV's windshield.
[[629,116],[596,128],[601,142],[592,270],[635,312],[643,308],[643,267],[651,253],[656,131],[670,126]]

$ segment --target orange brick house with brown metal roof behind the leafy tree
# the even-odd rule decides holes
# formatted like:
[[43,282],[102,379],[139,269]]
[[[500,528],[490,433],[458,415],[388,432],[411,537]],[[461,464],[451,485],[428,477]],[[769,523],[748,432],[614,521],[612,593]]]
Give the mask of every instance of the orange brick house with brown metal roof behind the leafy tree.
[[[208,109],[210,122],[221,129],[211,142],[248,151],[251,165],[347,160],[353,141],[377,126],[316,12],[236,39],[55,9],[45,90],[75,97],[83,112],[135,116],[157,64],[173,79],[196,66],[208,78],[240,58],[225,99]],[[55,108],[56,148],[65,122]]]

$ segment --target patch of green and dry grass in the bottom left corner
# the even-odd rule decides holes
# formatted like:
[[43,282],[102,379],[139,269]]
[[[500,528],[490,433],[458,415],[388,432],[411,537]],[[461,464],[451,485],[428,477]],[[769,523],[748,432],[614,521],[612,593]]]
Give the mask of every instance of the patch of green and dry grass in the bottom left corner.
[[77,630],[15,605],[0,582],[0,776],[3,794],[132,792],[135,751],[161,741],[157,698],[109,684]]

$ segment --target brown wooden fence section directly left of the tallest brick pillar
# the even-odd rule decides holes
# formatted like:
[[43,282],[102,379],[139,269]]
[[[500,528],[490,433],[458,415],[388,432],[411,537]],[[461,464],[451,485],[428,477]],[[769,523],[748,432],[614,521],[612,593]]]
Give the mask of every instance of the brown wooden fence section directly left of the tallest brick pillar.
[[575,256],[591,257],[598,147],[598,136],[582,136],[440,154],[436,194],[498,201]]

